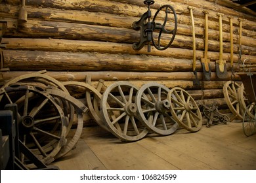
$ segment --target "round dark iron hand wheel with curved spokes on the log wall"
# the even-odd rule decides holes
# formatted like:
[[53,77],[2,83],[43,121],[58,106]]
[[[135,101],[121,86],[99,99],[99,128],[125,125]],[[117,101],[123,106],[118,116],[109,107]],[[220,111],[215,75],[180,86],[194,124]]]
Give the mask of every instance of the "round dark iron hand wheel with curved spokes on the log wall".
[[[165,12],[165,18],[161,20],[158,18],[158,14]],[[174,22],[173,22],[174,21]],[[177,32],[177,14],[171,5],[163,5],[156,12],[152,23],[154,25],[154,31],[152,31],[152,43],[158,50],[165,50],[169,48]],[[158,39],[154,38],[154,34],[158,35]],[[164,39],[162,39],[164,37]],[[166,44],[166,40],[169,42]],[[163,46],[165,45],[165,46]]]

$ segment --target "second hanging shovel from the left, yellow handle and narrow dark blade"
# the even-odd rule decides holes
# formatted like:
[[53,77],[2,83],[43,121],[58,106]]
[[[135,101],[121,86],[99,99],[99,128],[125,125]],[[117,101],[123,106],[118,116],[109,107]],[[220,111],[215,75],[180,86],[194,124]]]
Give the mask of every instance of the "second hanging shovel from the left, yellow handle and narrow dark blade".
[[205,42],[204,42],[204,53],[203,58],[201,58],[201,63],[203,67],[203,76],[205,80],[211,80],[211,66],[210,59],[207,59],[208,54],[208,12],[203,11],[205,14]]

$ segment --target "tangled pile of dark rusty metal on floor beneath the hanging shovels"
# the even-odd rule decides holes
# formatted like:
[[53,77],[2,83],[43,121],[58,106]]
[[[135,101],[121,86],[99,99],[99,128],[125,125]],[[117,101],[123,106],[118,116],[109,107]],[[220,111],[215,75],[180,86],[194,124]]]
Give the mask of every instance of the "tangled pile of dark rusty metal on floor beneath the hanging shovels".
[[213,104],[211,106],[199,104],[200,108],[203,110],[203,114],[206,116],[206,118],[209,120],[206,123],[207,127],[210,127],[211,125],[216,124],[227,124],[230,122],[230,118],[226,114],[222,114],[219,112],[218,107],[213,101]]

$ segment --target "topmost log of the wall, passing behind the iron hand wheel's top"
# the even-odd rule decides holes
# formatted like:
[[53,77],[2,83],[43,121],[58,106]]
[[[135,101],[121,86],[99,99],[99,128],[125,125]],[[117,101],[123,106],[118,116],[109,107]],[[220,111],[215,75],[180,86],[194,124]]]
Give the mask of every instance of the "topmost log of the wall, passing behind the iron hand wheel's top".
[[[7,0],[7,3],[11,4],[20,4],[20,2],[16,2],[17,0]],[[207,3],[203,1],[203,3]],[[160,5],[164,4],[170,4],[169,1],[161,1],[161,4],[156,2],[156,5],[152,7],[152,14],[156,12],[156,9],[160,7]],[[200,3],[198,3],[200,4]],[[202,4],[202,3],[201,3]],[[213,3],[211,3],[212,5]],[[37,7],[50,7],[50,8],[60,8],[60,9],[72,9],[72,10],[88,10],[91,12],[107,12],[111,14],[119,14],[123,16],[141,16],[144,12],[146,12],[147,7],[145,5],[138,6],[138,2],[136,3],[120,3],[119,1],[104,1],[104,0],[83,0],[83,1],[78,1],[77,0],[66,0],[66,1],[58,1],[58,0],[34,0],[34,1],[26,1],[26,5],[32,5],[32,6],[37,6]],[[171,3],[171,5],[175,8],[178,14],[187,14],[189,15],[188,12],[188,4],[187,3]],[[104,7],[104,8],[102,8]],[[215,20],[219,20],[218,17],[216,16],[216,9],[213,10],[211,8],[212,6],[209,6],[207,9],[209,11],[209,15],[212,18],[215,18]],[[221,7],[224,8],[224,7]],[[200,16],[199,19],[202,20],[203,13],[202,11],[205,10],[204,8],[195,8],[194,10],[194,16]],[[249,16],[248,14],[240,14],[240,12],[236,12],[230,10],[230,8],[224,8],[223,10],[219,9],[220,12],[229,12],[228,15],[234,16],[236,20],[234,20],[234,24],[238,25],[238,18],[244,18],[247,19],[247,22],[245,22],[244,27],[249,29],[255,29],[255,25],[253,25],[253,22],[255,21],[254,16]],[[231,12],[232,14],[230,14]],[[186,19],[188,22],[190,22],[190,19]],[[227,16],[223,17],[223,20],[228,22]],[[248,20],[252,20],[248,21]],[[199,22],[195,20],[195,24],[198,24]],[[202,24],[202,22],[201,22]],[[216,24],[217,25],[217,24]],[[216,29],[215,25],[215,29]],[[209,26],[211,26],[209,24]],[[213,26],[214,27],[214,26]]]

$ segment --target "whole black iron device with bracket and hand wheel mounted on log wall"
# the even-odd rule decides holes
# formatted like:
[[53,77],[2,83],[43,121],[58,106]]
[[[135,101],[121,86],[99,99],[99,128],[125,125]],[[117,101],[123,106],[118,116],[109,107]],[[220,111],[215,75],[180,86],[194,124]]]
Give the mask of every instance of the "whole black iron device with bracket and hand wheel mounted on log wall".
[[[148,5],[148,10],[142,15],[139,21],[133,22],[133,29],[139,31],[140,30],[140,41],[133,43],[133,49],[134,50],[140,50],[146,43],[148,43],[148,52],[151,51],[151,43],[154,45],[154,47],[158,50],[165,50],[169,48],[171,43],[173,42],[176,32],[177,32],[177,14],[171,5],[163,5],[160,7],[156,14],[154,15],[154,18],[152,19],[152,22],[150,22],[150,18],[152,17],[152,12],[150,10],[150,5],[153,5],[155,1],[144,1],[145,5]],[[158,17],[158,14],[165,14],[165,17]],[[173,16],[173,20],[170,20]],[[162,24],[159,22],[156,22],[156,19],[160,18]],[[159,20],[158,20],[159,21]],[[169,25],[167,23],[172,24]],[[158,34],[157,39],[154,37],[154,31],[156,31],[156,34]],[[161,36],[163,34],[171,35],[171,37],[168,37],[169,42],[166,41],[161,42]]]

